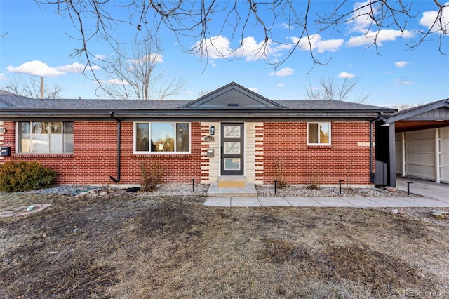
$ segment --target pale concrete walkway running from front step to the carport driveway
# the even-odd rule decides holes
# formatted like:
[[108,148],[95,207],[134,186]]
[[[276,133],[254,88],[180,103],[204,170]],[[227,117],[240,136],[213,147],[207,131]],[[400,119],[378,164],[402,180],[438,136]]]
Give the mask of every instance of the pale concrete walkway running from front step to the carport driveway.
[[449,207],[449,185],[422,180],[398,178],[399,190],[422,197],[208,197],[205,206],[249,207],[249,206],[328,206],[328,207]]

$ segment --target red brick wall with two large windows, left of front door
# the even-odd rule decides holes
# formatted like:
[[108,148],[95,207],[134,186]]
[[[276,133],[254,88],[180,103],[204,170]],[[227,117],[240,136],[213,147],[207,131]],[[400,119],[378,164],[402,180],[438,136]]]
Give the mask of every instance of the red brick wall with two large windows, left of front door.
[[[15,154],[15,123],[5,122],[4,145],[12,157],[2,161],[38,161],[58,172],[57,184],[112,184],[117,178],[117,124],[115,121],[75,121],[73,154]],[[139,184],[140,161],[157,161],[166,167],[163,182],[200,180],[201,136],[199,123],[191,124],[191,154],[134,155],[133,123],[121,123],[121,184]]]

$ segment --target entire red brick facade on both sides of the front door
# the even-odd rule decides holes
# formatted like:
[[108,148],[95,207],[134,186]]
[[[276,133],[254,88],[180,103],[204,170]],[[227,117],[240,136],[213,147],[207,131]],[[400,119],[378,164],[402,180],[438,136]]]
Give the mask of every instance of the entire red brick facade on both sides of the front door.
[[[15,154],[15,123],[6,121],[2,146],[11,146],[11,159],[39,161],[58,171],[58,184],[112,184],[109,176],[117,176],[115,121],[74,122],[73,154]],[[276,161],[284,161],[284,178],[288,184],[337,184],[339,179],[351,184],[369,184],[369,122],[333,122],[332,145],[307,146],[307,123],[264,123],[263,133],[265,183],[279,178]],[[189,183],[201,180],[201,125],[191,124],[191,154],[133,154],[133,122],[121,123],[121,184],[139,184],[140,162],[157,161],[166,167],[163,182]]]

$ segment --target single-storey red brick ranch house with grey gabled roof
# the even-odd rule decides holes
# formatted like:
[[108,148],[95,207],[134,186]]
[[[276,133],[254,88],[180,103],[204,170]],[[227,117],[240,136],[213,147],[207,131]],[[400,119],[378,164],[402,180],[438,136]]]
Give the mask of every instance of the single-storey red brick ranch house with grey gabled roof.
[[[394,109],[336,100],[269,100],[234,82],[198,100],[36,100],[0,92],[0,161],[39,161],[57,184],[370,185],[375,120]],[[0,162],[1,163],[1,162]]]

